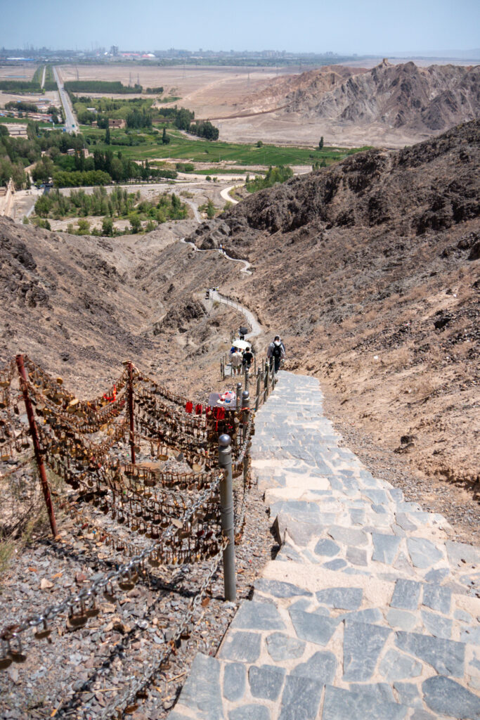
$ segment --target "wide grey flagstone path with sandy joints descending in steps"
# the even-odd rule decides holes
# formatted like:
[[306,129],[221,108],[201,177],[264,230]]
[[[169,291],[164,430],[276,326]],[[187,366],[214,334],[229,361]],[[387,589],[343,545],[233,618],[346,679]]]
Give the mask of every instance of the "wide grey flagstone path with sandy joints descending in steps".
[[281,539],[169,720],[480,719],[480,550],[375,478],[279,373],[253,467]]

